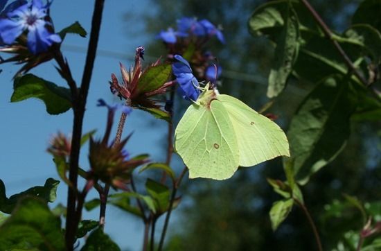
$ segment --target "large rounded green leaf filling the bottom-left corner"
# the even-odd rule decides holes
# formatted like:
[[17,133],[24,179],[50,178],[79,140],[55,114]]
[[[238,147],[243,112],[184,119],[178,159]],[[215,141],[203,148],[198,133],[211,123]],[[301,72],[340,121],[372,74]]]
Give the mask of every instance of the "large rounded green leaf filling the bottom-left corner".
[[66,250],[60,218],[51,213],[44,200],[26,197],[0,227],[0,250],[30,248]]

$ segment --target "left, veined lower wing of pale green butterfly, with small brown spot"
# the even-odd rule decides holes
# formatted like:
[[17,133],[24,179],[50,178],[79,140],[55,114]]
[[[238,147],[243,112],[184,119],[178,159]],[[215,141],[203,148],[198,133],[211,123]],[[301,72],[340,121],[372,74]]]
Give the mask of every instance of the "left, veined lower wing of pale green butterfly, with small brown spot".
[[224,105],[190,105],[175,130],[175,150],[188,166],[189,178],[230,178],[238,168],[239,150]]

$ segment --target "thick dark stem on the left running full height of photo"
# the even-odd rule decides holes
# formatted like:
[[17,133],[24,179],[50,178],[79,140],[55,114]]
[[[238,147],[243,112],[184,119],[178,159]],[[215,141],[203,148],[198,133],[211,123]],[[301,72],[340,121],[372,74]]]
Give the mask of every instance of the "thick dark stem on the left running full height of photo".
[[[73,132],[71,139],[71,153],[70,153],[70,166],[69,166],[69,180],[73,184],[73,188],[68,189],[67,196],[67,222],[65,241],[67,250],[73,250],[73,243],[76,238],[78,223],[76,223],[76,188],[78,179],[78,161],[80,156],[80,139],[82,137],[82,123],[85,115],[85,105],[87,94],[89,92],[89,85],[91,80],[91,73],[94,67],[94,60],[96,58],[96,48],[98,46],[98,37],[100,31],[100,22],[102,20],[103,4],[105,0],[96,0],[94,4],[94,13],[91,23],[91,34],[89,40],[89,48],[87,50],[87,58],[85,69],[83,71],[82,83],[78,96],[73,96]],[[78,208],[82,210],[81,208]]]

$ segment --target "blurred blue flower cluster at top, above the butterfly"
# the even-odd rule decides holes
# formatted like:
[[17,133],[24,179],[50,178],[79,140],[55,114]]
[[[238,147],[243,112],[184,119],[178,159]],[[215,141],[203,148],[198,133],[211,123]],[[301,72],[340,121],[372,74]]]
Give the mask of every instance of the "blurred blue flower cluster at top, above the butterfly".
[[202,19],[197,21],[197,19],[192,17],[182,17],[177,20],[177,31],[173,28],[168,28],[167,31],[161,31],[157,37],[168,44],[175,44],[177,37],[189,37],[191,35],[196,37],[216,36],[222,44],[225,43],[224,35],[220,29],[215,27],[209,20]]

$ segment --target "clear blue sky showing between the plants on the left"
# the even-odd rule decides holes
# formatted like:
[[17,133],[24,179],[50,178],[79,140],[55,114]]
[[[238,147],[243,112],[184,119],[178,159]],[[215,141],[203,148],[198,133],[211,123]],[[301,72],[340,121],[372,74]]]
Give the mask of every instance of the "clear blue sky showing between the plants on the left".
[[[107,110],[96,107],[96,101],[98,98],[104,98],[108,102],[113,101],[108,84],[111,73],[116,73],[118,76],[118,63],[123,62],[127,66],[132,64],[136,46],[144,45],[154,39],[154,34],[143,33],[145,25],[143,19],[135,20],[134,24],[123,22],[123,15],[127,10],[133,9],[137,13],[136,16],[147,11],[153,13],[154,9],[150,5],[150,0],[105,2],[98,50],[115,51],[122,55],[121,58],[107,57],[101,53],[97,56],[87,99],[83,132],[98,128],[96,135],[98,137],[103,135]],[[55,29],[60,31],[74,21],[79,21],[89,32],[93,8],[93,0],[54,1],[51,6],[51,16]],[[141,35],[136,35],[139,34],[139,30],[142,31]],[[62,51],[69,60],[77,83],[80,83],[82,77],[85,53],[80,52],[82,49],[79,52],[73,51],[73,46],[86,50],[87,44],[88,37],[84,39],[77,35],[68,35],[62,45]],[[146,52],[149,54],[149,48],[146,48]],[[130,55],[130,58],[123,58],[123,55],[126,54]],[[2,56],[7,57],[7,55]],[[55,71],[54,65],[53,61],[47,62],[41,67],[33,69],[31,73],[66,87]],[[71,133],[73,116],[71,110],[57,116],[48,115],[44,103],[37,99],[10,103],[12,76],[18,66],[6,64],[0,65],[0,69],[3,69],[0,74],[0,177],[6,184],[7,196],[11,196],[29,187],[43,185],[46,178],[59,180],[51,155],[46,153],[46,148],[49,139],[56,132],[61,131],[67,135]],[[118,118],[116,118],[117,120]],[[152,130],[152,126],[154,130]],[[160,146],[164,144],[162,141],[163,133],[166,133],[165,122],[156,121],[150,114],[134,110],[127,119],[125,135],[132,131],[134,135],[127,144],[127,150],[132,155],[150,153],[155,161],[163,161]],[[82,168],[88,168],[87,148],[82,151],[80,165]],[[53,206],[58,202],[65,205],[66,196],[67,187],[60,184],[57,191],[58,199]],[[96,197],[96,193],[89,194],[89,199],[94,197]],[[84,218],[97,219],[98,210],[85,213]],[[121,246],[122,250],[141,250],[143,224],[140,220],[126,216],[118,209],[108,207],[105,231]]]

